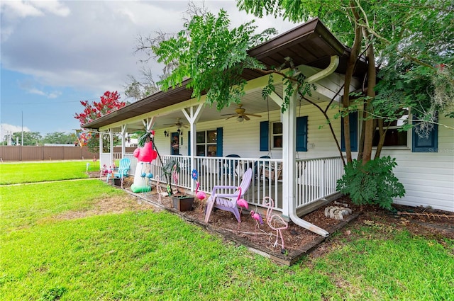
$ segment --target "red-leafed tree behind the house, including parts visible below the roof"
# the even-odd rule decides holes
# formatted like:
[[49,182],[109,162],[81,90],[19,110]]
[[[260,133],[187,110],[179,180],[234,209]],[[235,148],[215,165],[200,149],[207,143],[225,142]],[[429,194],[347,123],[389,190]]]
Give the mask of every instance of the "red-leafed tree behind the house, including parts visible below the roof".
[[[93,101],[93,103],[89,103],[89,101],[80,101],[82,106],[84,106],[84,110],[82,113],[75,113],[74,118],[79,120],[80,126],[89,123],[96,118],[100,118],[106,114],[113,112],[114,110],[118,110],[119,108],[123,108],[126,106],[126,102],[119,101],[120,95],[117,91],[111,92],[106,91],[104,95],[100,97],[101,100],[99,102]],[[118,143],[118,137],[114,136],[114,144]],[[96,133],[92,136],[92,139],[89,140],[88,149],[92,153],[99,152],[99,133]],[[110,146],[110,139],[103,135],[103,147],[104,152],[109,151]]]

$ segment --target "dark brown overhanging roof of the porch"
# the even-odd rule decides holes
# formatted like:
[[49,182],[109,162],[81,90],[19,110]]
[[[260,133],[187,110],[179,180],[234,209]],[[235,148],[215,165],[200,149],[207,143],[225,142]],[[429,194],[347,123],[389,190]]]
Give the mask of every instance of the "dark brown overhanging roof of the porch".
[[[337,40],[333,33],[321,23],[319,18],[314,18],[286,33],[277,35],[272,40],[264,42],[248,52],[249,55],[259,59],[267,67],[280,65],[284,62],[285,57],[292,57],[297,66],[304,64],[321,69],[328,66],[331,56],[338,55],[340,62],[336,72],[345,74],[350,48]],[[354,75],[365,74],[366,68],[366,64],[358,64]],[[248,69],[243,72],[242,76],[249,81],[263,76],[263,74]],[[160,108],[187,101],[192,98],[192,89],[187,89],[186,87],[190,80],[187,79],[182,83],[182,86],[175,89],[159,91],[140,101],[124,106],[101,118],[86,123],[82,127],[98,130],[100,127],[118,123],[128,118],[135,118],[146,112],[153,112]]]

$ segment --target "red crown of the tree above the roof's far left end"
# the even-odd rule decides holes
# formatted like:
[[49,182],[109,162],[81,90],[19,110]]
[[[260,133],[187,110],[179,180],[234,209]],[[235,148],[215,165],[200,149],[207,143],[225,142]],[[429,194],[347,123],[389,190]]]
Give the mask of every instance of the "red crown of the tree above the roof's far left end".
[[119,108],[123,108],[126,106],[126,102],[119,101],[120,94],[117,91],[111,92],[106,91],[104,95],[101,96],[101,100],[93,103],[89,103],[89,101],[80,101],[82,106],[84,106],[84,110],[82,113],[76,113],[74,118],[79,120],[80,126],[84,125],[85,123],[89,123],[96,118],[100,118],[106,114],[113,112],[114,110],[118,110]]

